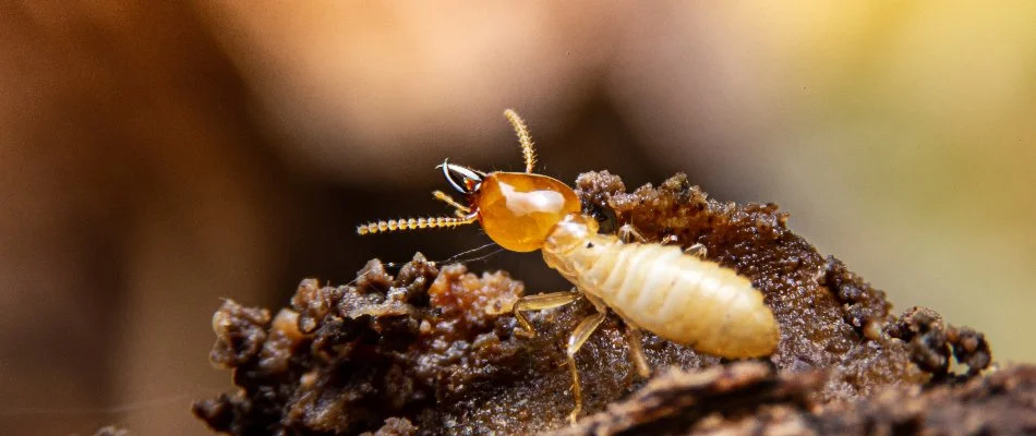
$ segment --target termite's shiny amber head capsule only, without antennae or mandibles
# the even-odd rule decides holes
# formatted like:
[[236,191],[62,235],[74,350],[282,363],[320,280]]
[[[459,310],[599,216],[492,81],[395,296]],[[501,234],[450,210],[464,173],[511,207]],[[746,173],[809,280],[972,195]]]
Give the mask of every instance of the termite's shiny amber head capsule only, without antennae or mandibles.
[[580,209],[579,198],[565,183],[520,172],[486,177],[477,206],[485,234],[515,252],[539,250],[554,225]]

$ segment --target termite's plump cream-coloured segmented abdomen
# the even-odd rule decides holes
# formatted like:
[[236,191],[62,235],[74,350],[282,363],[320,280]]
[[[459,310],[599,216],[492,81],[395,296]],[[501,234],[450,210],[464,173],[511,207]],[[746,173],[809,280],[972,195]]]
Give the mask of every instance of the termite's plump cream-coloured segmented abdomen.
[[724,358],[776,348],[773,313],[733,269],[661,244],[599,244],[569,256],[583,291],[658,336]]

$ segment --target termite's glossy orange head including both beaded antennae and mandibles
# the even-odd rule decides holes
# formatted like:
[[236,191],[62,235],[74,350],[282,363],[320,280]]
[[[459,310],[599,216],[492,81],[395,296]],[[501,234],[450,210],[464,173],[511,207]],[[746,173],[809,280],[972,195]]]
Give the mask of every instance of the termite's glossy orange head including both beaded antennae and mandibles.
[[579,215],[581,205],[575,191],[565,183],[532,172],[535,154],[525,122],[511,111],[504,111],[518,133],[526,172],[485,173],[461,165],[443,161],[446,181],[465,195],[467,205],[436,191],[435,197],[453,206],[455,217],[377,221],[360,226],[357,232],[370,234],[394,230],[457,227],[480,222],[485,233],[499,246],[516,251],[539,250],[555,225],[568,215]]

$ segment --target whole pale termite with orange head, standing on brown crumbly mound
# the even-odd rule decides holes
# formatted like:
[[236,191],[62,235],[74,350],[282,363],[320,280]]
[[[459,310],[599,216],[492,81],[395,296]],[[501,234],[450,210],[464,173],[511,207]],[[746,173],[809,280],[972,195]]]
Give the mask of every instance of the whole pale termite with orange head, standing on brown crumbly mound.
[[[742,359],[772,354],[780,339],[773,313],[751,281],[733,269],[685,253],[680,247],[648,243],[631,227],[619,234],[598,232],[594,217],[582,213],[576,192],[565,183],[533,173],[535,152],[526,123],[507,109],[518,134],[526,172],[482,172],[443,161],[446,181],[465,195],[467,206],[442,191],[435,198],[454,207],[454,217],[370,222],[357,233],[453,228],[479,222],[499,246],[515,252],[540,250],[546,264],[575,288],[522,296],[514,314],[530,336],[535,330],[522,311],[559,307],[587,299],[597,313],[568,337],[565,354],[571,370],[575,421],[582,395],[575,355],[612,310],[627,325],[630,359],[638,373],[650,374],[640,347],[640,329],[697,351]],[[621,238],[622,237],[622,238]]]

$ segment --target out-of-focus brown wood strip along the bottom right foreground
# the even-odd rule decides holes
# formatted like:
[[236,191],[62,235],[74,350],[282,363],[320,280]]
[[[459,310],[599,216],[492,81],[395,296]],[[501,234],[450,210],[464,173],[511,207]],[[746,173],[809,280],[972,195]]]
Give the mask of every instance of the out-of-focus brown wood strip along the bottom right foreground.
[[758,362],[670,370],[607,411],[556,435],[1020,435],[1036,432],[1036,368],[1012,366],[961,384],[883,387],[856,401],[817,403],[823,371]]

